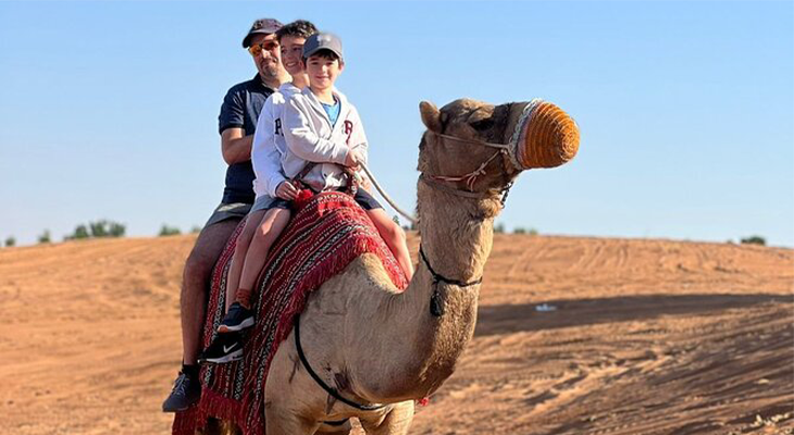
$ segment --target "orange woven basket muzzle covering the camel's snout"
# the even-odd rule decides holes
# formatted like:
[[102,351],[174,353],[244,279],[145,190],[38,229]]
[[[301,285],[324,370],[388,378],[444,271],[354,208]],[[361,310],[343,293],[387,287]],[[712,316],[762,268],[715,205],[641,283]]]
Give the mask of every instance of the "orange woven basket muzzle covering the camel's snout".
[[579,151],[579,126],[557,105],[532,100],[519,120],[513,163],[522,169],[555,167]]

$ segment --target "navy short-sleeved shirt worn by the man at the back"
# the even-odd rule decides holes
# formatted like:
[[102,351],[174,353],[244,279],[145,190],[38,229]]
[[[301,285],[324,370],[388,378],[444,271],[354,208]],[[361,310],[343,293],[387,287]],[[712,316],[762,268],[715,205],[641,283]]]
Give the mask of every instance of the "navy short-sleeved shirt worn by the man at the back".
[[[226,128],[243,128],[244,136],[257,129],[257,120],[262,112],[264,100],[273,89],[262,83],[257,74],[252,79],[234,85],[223,98],[221,114],[218,116],[219,132]],[[226,187],[223,189],[223,203],[253,203],[253,166],[251,161],[235,163],[226,170]]]

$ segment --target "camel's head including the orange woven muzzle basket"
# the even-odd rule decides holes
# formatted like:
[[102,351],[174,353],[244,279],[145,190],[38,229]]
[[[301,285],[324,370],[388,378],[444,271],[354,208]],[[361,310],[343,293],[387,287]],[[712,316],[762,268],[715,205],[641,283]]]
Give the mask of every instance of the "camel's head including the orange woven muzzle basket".
[[579,149],[579,127],[566,112],[543,101],[493,105],[455,100],[438,110],[419,105],[427,132],[419,151],[425,183],[495,198],[522,172],[555,167]]

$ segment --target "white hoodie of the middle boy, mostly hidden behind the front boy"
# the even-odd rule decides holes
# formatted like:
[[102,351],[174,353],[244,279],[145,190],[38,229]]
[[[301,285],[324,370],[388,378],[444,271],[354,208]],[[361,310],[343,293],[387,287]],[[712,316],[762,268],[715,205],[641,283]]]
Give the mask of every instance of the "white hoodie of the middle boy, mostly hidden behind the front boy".
[[275,198],[276,188],[287,179],[282,170],[282,158],[287,150],[284,140],[284,107],[296,94],[300,94],[300,89],[291,83],[285,83],[268,97],[259,114],[251,148],[251,163],[257,176],[253,181],[253,192],[257,198]]

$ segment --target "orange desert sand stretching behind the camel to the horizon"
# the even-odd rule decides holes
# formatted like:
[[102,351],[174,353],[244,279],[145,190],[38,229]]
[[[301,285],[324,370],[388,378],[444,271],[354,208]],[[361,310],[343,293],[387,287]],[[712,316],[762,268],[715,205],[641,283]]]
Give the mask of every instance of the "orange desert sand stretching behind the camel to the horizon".
[[[194,240],[0,249],[0,434],[169,434]],[[792,434],[793,286],[791,249],[497,235],[411,433]]]

